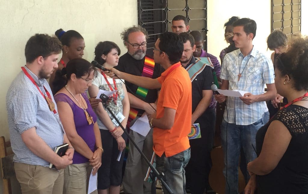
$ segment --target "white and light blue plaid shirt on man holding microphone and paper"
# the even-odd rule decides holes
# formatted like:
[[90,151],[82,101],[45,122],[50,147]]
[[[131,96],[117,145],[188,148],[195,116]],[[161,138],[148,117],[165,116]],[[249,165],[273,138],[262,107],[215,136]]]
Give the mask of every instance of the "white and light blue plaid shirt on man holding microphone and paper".
[[[238,81],[240,72],[241,78]],[[241,50],[237,49],[225,55],[220,77],[229,80],[229,90],[237,89],[259,95],[264,93],[265,83],[274,83],[274,66],[270,58],[254,47],[245,57]],[[225,111],[225,121],[237,125],[250,125],[262,118],[264,112],[268,111],[264,101],[247,105],[238,97],[228,97],[226,106],[229,118]]]

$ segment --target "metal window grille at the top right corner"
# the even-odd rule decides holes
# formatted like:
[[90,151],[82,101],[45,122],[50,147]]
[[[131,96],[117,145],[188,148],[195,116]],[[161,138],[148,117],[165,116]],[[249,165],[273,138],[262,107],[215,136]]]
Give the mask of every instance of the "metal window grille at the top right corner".
[[287,37],[301,32],[301,0],[271,0],[271,31],[281,29]]

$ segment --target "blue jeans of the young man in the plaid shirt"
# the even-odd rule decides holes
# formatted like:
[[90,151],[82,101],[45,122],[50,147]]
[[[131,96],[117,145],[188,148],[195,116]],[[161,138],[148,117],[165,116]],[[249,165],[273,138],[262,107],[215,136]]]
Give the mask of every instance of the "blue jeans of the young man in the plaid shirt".
[[[225,168],[223,173],[226,177],[225,193],[238,193],[238,162],[241,146],[244,150],[246,158],[246,166],[249,162],[257,157],[256,134],[261,126],[265,125],[269,120],[269,112],[265,112],[263,118],[250,125],[236,125],[235,123],[227,123],[225,120],[221,123],[221,140],[224,150]],[[228,139],[227,139],[228,136]],[[253,145],[253,146],[252,146]],[[228,161],[228,164],[227,164]],[[247,173],[245,178],[250,178]]]

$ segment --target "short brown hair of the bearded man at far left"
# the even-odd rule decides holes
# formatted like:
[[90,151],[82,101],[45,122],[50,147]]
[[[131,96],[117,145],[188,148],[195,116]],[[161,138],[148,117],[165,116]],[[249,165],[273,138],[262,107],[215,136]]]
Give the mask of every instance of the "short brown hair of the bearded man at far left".
[[30,37],[25,47],[26,62],[32,63],[39,56],[46,58],[53,54],[59,54],[61,50],[62,44],[57,37],[35,34]]

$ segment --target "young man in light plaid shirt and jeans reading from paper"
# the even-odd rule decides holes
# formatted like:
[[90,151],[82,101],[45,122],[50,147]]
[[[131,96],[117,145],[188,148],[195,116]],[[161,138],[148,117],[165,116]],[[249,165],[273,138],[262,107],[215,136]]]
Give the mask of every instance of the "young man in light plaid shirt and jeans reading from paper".
[[[276,96],[272,61],[252,43],[256,29],[256,22],[249,18],[241,18],[233,23],[233,41],[239,49],[225,55],[221,69],[221,89],[237,89],[248,93],[243,97],[215,95],[219,103],[226,101],[227,107],[221,124],[224,174],[225,177],[228,175],[225,193],[238,193],[237,167],[241,146],[246,166],[257,157],[254,151],[256,133],[269,120],[265,101]],[[267,92],[264,93],[265,84]]]

